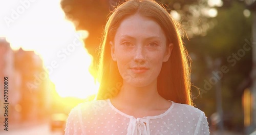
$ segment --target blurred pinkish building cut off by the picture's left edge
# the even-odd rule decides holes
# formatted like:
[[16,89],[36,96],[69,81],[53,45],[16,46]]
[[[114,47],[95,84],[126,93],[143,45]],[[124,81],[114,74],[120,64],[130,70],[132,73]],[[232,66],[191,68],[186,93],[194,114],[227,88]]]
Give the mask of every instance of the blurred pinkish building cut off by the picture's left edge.
[[[18,121],[20,118],[18,102],[20,100],[20,73],[14,68],[14,51],[11,50],[9,42],[0,37],[0,102],[4,102],[4,77],[8,77],[8,119]],[[1,114],[4,114],[4,108],[0,108]],[[11,115],[10,115],[11,114]],[[2,119],[3,115],[0,116]]]

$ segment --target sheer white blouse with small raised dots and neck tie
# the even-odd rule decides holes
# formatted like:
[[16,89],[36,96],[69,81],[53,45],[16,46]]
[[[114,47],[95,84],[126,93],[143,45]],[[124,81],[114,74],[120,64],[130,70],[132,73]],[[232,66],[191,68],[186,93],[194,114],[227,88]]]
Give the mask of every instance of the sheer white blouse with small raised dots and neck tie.
[[158,116],[134,118],[116,109],[109,99],[81,103],[68,117],[65,135],[80,134],[209,134],[203,111],[172,102]]

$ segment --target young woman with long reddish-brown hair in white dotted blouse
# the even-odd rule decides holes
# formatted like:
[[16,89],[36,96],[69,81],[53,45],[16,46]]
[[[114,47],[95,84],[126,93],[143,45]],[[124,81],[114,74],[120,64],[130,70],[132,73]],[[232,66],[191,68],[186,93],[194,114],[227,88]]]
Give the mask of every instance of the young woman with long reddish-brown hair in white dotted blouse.
[[65,134],[209,134],[191,106],[179,24],[151,0],[116,8],[100,48],[97,100],[72,109]]

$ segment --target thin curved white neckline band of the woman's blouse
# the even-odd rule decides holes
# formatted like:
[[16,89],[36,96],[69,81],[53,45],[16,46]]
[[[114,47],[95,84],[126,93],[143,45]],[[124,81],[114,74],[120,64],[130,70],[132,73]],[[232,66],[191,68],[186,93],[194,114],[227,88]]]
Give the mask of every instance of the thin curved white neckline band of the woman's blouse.
[[147,120],[148,120],[148,119],[157,119],[157,118],[161,118],[161,117],[165,116],[166,114],[168,114],[168,113],[170,112],[170,110],[172,110],[172,108],[173,108],[174,105],[175,105],[175,102],[168,100],[168,101],[172,102],[172,105],[170,105],[170,107],[169,107],[164,113],[162,113],[162,114],[160,114],[160,115],[156,115],[156,116],[145,116],[145,117],[142,117],[142,118],[135,118],[134,116],[127,115],[127,114],[123,113],[122,111],[120,111],[119,109],[117,109],[117,108],[111,103],[110,99],[107,99],[106,101],[108,102],[108,104],[110,105],[110,107],[111,107],[113,110],[116,111],[116,113],[118,113],[118,114],[120,114],[120,115],[122,115],[122,116],[124,116],[124,117],[130,118],[130,119],[147,119]]

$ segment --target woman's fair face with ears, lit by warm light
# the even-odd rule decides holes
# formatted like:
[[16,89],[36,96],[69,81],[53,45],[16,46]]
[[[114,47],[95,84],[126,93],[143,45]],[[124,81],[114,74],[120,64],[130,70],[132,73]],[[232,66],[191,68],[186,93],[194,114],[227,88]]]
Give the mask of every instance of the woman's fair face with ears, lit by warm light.
[[111,44],[123,83],[143,87],[157,82],[162,63],[169,59],[173,45],[167,44],[156,21],[135,14],[125,18]]

